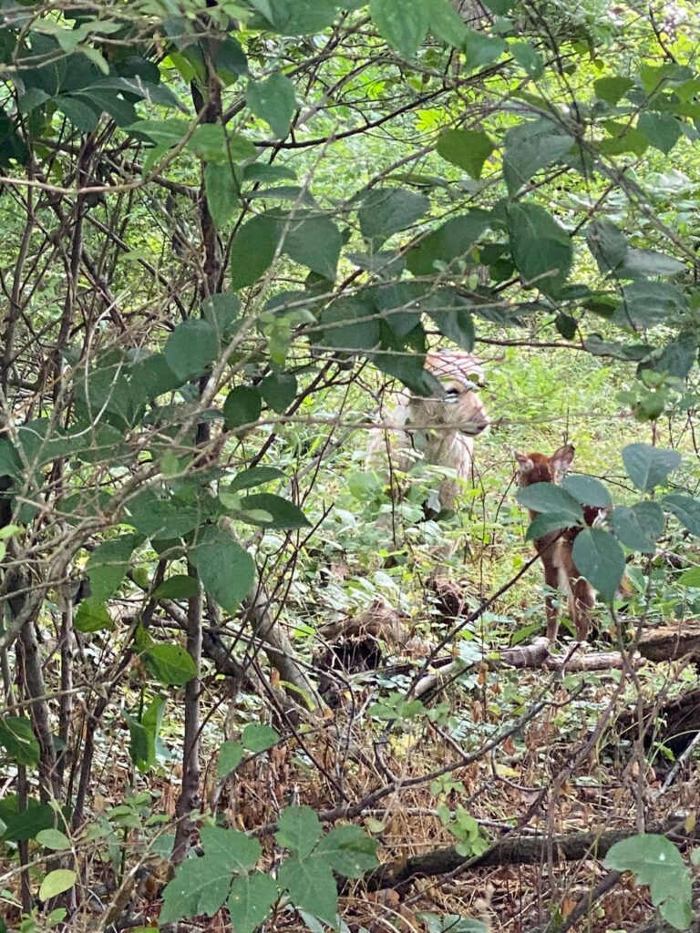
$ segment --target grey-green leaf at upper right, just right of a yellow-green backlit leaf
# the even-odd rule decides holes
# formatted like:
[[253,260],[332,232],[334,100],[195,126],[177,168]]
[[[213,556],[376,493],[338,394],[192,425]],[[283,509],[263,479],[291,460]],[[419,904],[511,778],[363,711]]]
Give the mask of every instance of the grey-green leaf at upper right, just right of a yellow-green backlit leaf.
[[504,140],[503,177],[514,194],[540,169],[562,160],[573,139],[551,120],[526,120],[511,127]]

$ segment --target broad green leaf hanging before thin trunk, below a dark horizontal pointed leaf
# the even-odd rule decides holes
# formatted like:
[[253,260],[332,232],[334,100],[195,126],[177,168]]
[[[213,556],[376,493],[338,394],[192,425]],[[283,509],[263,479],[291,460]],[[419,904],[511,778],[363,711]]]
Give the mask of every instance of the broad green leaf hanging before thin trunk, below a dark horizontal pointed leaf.
[[229,532],[218,527],[204,528],[188,553],[206,592],[222,609],[235,612],[255,582],[255,563],[250,554]]

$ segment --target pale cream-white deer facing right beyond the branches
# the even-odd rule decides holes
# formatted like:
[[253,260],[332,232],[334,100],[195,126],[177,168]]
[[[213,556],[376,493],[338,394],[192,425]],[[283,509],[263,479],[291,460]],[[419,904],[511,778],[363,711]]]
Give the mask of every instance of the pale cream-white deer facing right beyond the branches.
[[[441,383],[442,396],[414,396],[404,389],[389,415],[392,426],[375,432],[370,441],[367,468],[381,468],[388,454],[392,465],[407,473],[422,453],[424,463],[455,471],[455,478],[445,477],[438,490],[441,511],[455,511],[460,486],[471,473],[474,438],[491,424],[478,391],[483,367],[472,354],[442,350],[427,354],[425,368]],[[425,438],[420,453],[419,434]]]

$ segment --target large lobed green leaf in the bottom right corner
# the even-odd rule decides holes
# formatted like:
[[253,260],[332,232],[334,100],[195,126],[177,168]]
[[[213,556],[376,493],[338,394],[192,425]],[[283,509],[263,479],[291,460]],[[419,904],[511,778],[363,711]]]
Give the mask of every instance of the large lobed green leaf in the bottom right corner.
[[634,871],[648,884],[654,907],[676,929],[687,929],[693,918],[691,874],[678,847],[665,836],[638,835],[616,842],[603,863],[607,869]]

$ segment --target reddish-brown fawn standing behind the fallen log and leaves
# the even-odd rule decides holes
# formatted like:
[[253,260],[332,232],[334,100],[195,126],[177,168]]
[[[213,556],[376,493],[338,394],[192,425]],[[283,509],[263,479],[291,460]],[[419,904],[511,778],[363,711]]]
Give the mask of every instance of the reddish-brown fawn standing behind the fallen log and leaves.
[[[554,451],[551,457],[544,453],[516,453],[520,467],[518,485],[521,488],[536,482],[558,482],[561,475],[571,466],[574,459],[573,444],[565,444]],[[583,519],[593,525],[607,512],[605,508],[583,506]],[[530,520],[535,517],[530,511]],[[576,627],[576,636],[584,641],[591,625],[591,609],[595,605],[595,590],[588,580],[581,577],[574,564],[574,539],[582,531],[581,526],[553,531],[535,540],[535,550],[544,566],[544,581],[553,590],[565,593],[568,613]],[[559,612],[552,595],[545,600],[547,612],[547,637],[553,641],[559,632]]]

